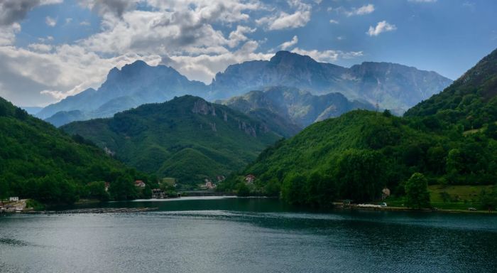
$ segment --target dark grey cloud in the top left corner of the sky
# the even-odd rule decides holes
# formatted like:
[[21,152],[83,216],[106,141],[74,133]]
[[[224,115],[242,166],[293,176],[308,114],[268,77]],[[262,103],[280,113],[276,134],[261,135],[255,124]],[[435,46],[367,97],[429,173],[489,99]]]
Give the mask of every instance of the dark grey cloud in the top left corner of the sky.
[[26,17],[36,6],[59,4],[63,0],[2,0],[0,1],[0,26],[8,26]]

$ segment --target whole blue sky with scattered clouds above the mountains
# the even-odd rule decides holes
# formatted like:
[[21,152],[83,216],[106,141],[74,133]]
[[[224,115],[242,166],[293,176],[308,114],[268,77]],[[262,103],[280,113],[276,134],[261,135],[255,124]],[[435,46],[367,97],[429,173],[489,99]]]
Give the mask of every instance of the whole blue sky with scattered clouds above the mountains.
[[457,79],[497,48],[497,1],[0,0],[0,97],[45,106],[134,60],[209,84],[278,50]]

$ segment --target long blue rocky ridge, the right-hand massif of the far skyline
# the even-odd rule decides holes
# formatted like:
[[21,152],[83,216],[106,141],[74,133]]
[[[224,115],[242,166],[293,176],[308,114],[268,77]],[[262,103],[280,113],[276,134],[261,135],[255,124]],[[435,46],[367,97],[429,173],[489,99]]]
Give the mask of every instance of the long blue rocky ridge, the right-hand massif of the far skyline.
[[435,72],[394,63],[362,63],[343,68],[309,56],[280,51],[271,60],[230,65],[212,82],[212,96],[229,98],[262,87],[285,85],[313,94],[340,92],[398,114],[442,91],[452,80]]

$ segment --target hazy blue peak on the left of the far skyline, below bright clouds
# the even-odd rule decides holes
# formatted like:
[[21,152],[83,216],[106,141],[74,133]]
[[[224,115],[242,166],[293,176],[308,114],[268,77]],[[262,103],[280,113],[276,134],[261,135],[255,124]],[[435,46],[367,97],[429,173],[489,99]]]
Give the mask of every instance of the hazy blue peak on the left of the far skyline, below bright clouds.
[[164,102],[185,94],[205,96],[206,92],[207,87],[202,82],[188,80],[173,68],[153,67],[137,60],[121,70],[110,70],[98,90],[90,88],[67,97],[45,107],[37,116],[47,119],[60,111],[80,110],[87,118],[111,117],[144,103]]

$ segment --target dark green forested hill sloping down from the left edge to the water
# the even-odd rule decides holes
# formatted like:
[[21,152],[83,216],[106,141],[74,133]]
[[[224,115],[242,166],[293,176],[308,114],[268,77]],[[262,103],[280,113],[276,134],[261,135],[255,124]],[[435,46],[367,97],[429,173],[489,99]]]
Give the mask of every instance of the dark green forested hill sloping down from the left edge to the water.
[[[133,179],[146,179],[82,137],[70,137],[1,97],[0,128],[0,198],[72,203],[80,197],[105,198],[103,181],[125,190]],[[99,196],[92,196],[90,182],[95,182],[94,190],[102,190]],[[133,198],[135,193],[131,188],[114,198]]]

